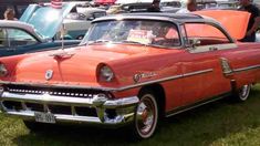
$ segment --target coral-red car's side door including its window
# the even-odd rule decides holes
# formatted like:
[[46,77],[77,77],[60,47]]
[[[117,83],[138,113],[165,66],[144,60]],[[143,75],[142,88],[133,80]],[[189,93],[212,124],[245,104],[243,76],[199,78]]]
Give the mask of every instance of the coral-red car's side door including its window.
[[230,91],[220,67],[218,49],[232,48],[232,40],[212,23],[186,23],[187,51],[181,58],[184,105],[211,100]]

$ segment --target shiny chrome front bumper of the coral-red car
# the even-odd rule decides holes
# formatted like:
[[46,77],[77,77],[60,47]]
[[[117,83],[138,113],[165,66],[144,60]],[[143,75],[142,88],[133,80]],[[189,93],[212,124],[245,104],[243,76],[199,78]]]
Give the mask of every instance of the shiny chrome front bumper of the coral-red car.
[[[50,105],[62,105],[71,108],[71,114],[52,113],[55,122],[69,123],[85,123],[85,124],[101,124],[101,125],[124,125],[134,119],[134,112],[137,103],[137,96],[124,97],[118,100],[108,100],[105,94],[94,95],[92,98],[69,97],[69,96],[53,96],[49,94],[18,94],[10,92],[2,92],[1,109],[8,115],[20,116],[24,119],[34,119],[33,111],[28,107],[28,103],[42,105],[44,113],[52,113]],[[6,106],[4,102],[15,102],[21,104],[21,108],[14,106]],[[96,116],[77,115],[75,107],[91,107],[96,112]],[[107,111],[113,111],[111,114]]]

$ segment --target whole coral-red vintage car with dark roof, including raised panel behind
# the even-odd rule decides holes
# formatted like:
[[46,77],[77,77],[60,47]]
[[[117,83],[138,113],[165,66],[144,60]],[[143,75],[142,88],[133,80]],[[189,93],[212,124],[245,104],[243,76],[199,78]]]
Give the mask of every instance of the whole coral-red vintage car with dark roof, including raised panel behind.
[[202,11],[96,19],[81,46],[0,59],[2,111],[31,129],[63,122],[128,125],[148,138],[160,117],[226,96],[248,98],[260,81],[260,44],[237,41],[249,17]]

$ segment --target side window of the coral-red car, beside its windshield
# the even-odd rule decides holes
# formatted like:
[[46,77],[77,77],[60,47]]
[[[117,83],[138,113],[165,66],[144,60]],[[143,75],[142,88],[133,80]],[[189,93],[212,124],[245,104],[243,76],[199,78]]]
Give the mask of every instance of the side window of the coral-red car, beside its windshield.
[[195,42],[197,46],[231,43],[216,27],[207,23],[186,23],[187,42]]

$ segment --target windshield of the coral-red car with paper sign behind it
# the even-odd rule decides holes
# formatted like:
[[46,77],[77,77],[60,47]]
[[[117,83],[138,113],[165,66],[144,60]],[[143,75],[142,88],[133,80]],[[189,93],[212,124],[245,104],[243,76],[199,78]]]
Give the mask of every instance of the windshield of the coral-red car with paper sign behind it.
[[179,46],[177,27],[170,22],[121,20],[96,22],[81,44],[137,43],[145,45]]

